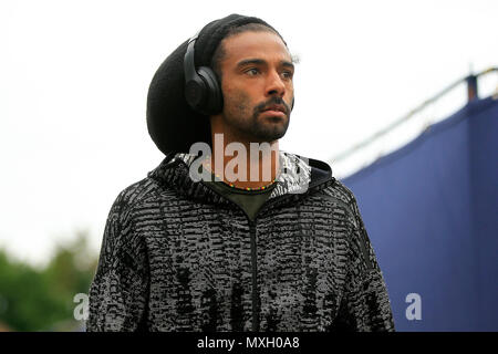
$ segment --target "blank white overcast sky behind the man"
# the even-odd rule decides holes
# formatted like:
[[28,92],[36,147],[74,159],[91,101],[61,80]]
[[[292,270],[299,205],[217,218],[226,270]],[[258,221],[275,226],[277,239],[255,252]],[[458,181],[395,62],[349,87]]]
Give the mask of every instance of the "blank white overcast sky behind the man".
[[[470,65],[498,65],[498,1],[3,0],[0,248],[43,263],[55,242],[87,228],[98,251],[117,194],[163,159],[145,123],[155,71],[206,23],[232,12],[272,24],[300,58],[280,147],[323,160]],[[400,136],[464,103],[460,90],[447,112],[428,110]],[[382,144],[388,152],[401,143]],[[349,171],[364,164],[350,163]]]

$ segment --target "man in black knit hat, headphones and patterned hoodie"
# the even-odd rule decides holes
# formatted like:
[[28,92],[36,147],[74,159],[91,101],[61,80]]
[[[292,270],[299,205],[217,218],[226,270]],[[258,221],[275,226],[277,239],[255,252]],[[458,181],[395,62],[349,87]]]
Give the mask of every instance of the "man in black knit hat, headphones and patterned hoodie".
[[87,331],[394,331],[353,194],[278,147],[293,71],[238,14],[160,65],[147,123],[166,157],[111,208]]

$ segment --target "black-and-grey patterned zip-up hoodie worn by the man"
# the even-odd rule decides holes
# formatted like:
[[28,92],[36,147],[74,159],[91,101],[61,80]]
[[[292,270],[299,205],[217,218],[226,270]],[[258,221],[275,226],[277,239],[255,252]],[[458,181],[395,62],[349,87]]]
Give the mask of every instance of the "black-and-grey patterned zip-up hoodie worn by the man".
[[280,152],[250,221],[189,177],[195,156],[172,157],[111,208],[86,331],[394,331],[355,198],[329,165]]

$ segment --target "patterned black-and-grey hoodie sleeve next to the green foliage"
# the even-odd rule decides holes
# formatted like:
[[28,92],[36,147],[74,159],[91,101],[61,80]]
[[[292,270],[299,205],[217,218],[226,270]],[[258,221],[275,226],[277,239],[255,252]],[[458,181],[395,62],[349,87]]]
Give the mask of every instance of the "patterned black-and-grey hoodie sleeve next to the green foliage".
[[135,235],[126,190],[114,201],[105,225],[98,266],[90,288],[87,332],[144,329],[148,270],[143,239]]

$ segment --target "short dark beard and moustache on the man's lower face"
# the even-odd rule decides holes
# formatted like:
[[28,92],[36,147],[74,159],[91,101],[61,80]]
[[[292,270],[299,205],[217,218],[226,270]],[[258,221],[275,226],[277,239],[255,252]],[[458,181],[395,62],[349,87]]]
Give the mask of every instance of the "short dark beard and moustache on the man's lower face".
[[[286,116],[261,117],[263,110],[273,104],[283,105]],[[281,97],[272,96],[251,107],[249,96],[239,92],[230,96],[230,100],[225,100],[222,116],[225,124],[230,126],[239,138],[253,143],[270,143],[286,135],[290,114],[291,108]]]

